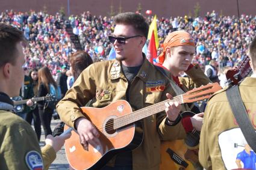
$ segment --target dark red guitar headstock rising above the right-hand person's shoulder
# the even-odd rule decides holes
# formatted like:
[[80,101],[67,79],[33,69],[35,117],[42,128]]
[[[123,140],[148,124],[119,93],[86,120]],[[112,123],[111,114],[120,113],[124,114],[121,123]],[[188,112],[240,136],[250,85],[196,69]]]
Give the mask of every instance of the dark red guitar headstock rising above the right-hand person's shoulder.
[[237,85],[245,77],[251,74],[252,68],[249,61],[249,56],[246,56],[236,68],[232,68],[226,72],[228,85]]

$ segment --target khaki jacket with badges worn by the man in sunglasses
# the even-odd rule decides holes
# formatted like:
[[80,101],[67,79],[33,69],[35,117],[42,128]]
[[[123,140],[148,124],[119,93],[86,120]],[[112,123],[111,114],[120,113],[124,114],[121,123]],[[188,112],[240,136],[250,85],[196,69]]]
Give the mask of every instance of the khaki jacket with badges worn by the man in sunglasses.
[[[84,115],[79,107],[92,99],[91,106],[102,108],[116,100],[126,100],[128,81],[122,73],[121,64],[116,60],[96,62],[86,68],[58,103],[57,111],[61,120],[74,127],[74,122]],[[166,93],[176,96],[169,80],[147,59],[144,59],[139,73],[131,82],[130,105],[134,110],[166,100]],[[166,113],[143,119],[144,138],[142,145],[133,150],[133,169],[159,169],[160,140],[175,140],[185,136],[181,123],[176,126],[165,124]]]

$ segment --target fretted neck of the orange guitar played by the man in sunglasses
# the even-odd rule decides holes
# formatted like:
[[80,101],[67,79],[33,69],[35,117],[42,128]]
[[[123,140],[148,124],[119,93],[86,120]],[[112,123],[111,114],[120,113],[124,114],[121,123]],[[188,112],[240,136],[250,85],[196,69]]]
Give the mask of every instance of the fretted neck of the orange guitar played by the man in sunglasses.
[[125,115],[123,117],[116,118],[114,119],[114,129],[118,129],[120,127],[126,126],[128,124],[142,120],[143,118],[146,118],[151,115],[164,111],[166,109],[166,106],[165,106],[166,102],[178,102],[179,104],[183,104],[183,95],[173,97],[172,100],[170,99],[164,100],[163,102],[148,106],[138,111],[134,111],[131,114]]

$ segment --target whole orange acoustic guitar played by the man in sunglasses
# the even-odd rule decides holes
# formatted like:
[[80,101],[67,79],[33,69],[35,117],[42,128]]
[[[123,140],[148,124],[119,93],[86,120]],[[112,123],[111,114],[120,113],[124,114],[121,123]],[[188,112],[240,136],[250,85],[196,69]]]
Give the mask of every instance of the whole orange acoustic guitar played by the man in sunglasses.
[[[125,100],[117,100],[104,108],[82,107],[81,110],[101,134],[99,145],[89,145],[89,150],[84,150],[79,135],[72,131],[72,136],[65,141],[67,160],[73,169],[101,169],[114,155],[133,150],[141,144],[143,130],[135,130],[137,126],[141,127],[139,120],[164,111],[164,103],[196,102],[208,99],[220,89],[218,83],[212,83],[134,112]],[[64,129],[69,127],[65,125]]]

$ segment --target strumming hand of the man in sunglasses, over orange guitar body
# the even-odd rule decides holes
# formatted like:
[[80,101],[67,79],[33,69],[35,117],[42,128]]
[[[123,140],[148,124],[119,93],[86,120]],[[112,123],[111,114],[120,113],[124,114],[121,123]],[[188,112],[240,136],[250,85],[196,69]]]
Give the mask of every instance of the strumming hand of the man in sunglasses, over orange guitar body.
[[83,146],[84,150],[88,151],[88,144],[92,146],[100,145],[98,139],[99,132],[91,121],[84,117],[78,118],[75,121],[75,127],[80,136],[80,144]]

